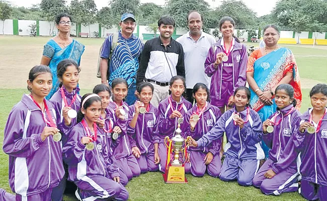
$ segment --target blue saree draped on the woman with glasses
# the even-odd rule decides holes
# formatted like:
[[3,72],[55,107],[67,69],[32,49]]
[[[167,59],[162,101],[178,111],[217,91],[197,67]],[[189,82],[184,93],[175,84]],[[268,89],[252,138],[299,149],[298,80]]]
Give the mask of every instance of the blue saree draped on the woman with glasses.
[[[50,99],[51,96],[58,90],[59,88],[59,80],[57,77],[57,65],[60,61],[64,59],[74,60],[78,65],[80,64],[80,58],[85,50],[85,46],[76,40],[73,40],[67,47],[61,49],[58,48],[58,44],[56,44],[53,40],[50,40],[47,45],[53,47],[54,50],[58,49],[59,51],[54,51],[53,56],[51,57],[51,61],[49,63],[49,67],[52,72],[52,89],[50,93],[46,96],[46,99]],[[56,47],[57,46],[57,47]]]

